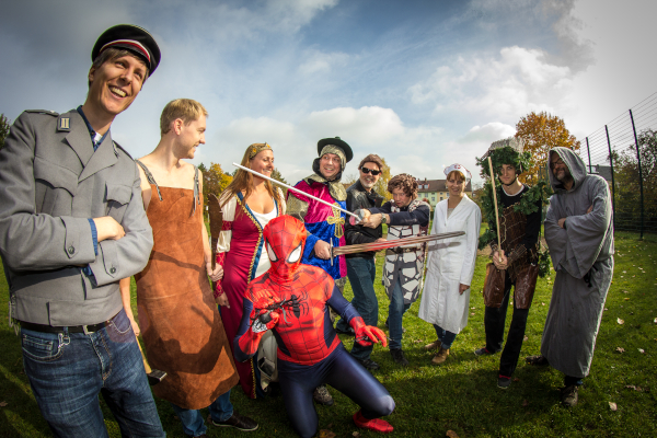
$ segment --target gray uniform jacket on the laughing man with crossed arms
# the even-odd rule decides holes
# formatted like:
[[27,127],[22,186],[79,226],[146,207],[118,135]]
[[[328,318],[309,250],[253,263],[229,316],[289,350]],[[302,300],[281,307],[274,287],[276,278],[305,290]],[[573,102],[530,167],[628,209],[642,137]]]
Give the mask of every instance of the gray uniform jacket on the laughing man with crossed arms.
[[[126,234],[100,242],[95,255],[89,218],[103,216]],[[118,280],[143,269],[152,244],[139,172],[110,134],[94,152],[76,110],[21,114],[0,150],[10,318],[54,326],[108,320],[122,309]],[[93,279],[82,273],[88,265]]]

